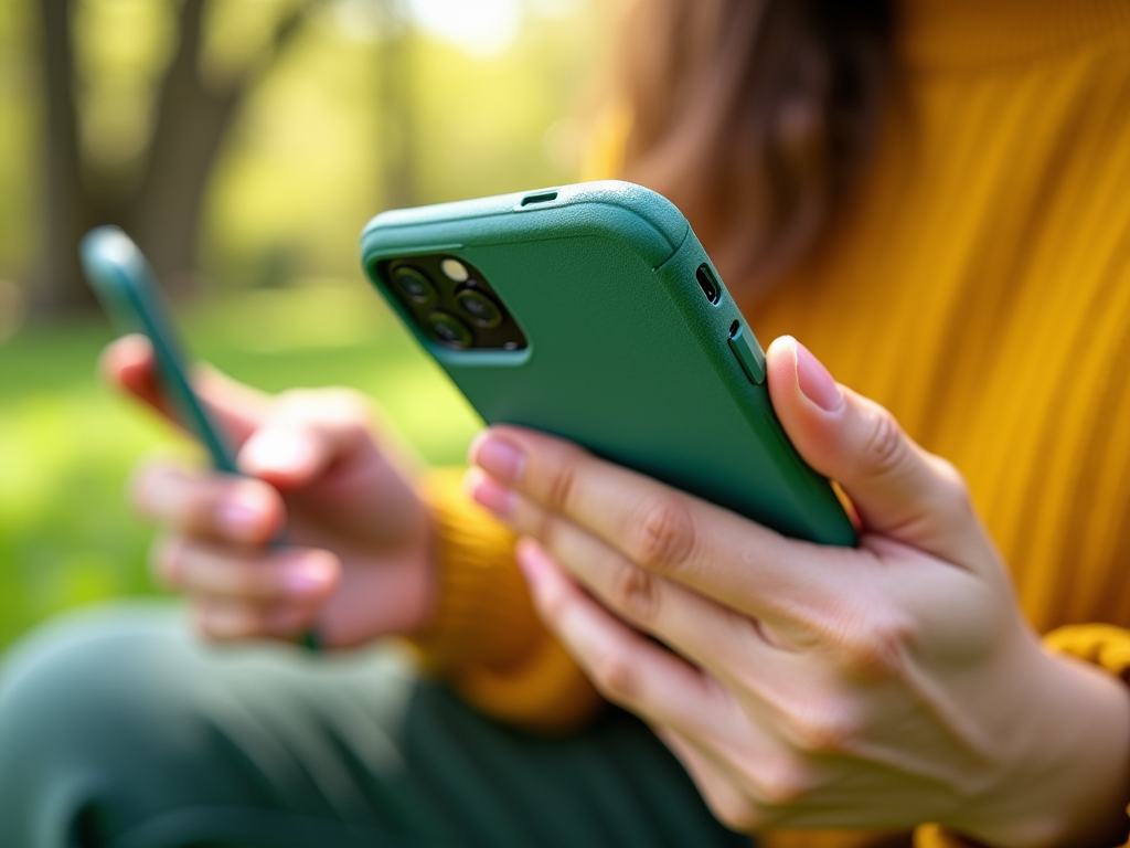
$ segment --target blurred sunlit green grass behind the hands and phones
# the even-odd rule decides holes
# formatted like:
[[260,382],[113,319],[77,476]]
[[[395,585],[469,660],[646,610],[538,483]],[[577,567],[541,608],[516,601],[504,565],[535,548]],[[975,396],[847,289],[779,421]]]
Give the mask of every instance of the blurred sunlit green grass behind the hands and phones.
[[[359,282],[257,291],[184,315],[193,353],[268,391],[353,386],[433,464],[462,461],[478,427],[446,378]],[[199,455],[103,386],[108,326],[92,317],[0,343],[0,649],[60,611],[150,594],[153,529],[124,497],[154,453]]]

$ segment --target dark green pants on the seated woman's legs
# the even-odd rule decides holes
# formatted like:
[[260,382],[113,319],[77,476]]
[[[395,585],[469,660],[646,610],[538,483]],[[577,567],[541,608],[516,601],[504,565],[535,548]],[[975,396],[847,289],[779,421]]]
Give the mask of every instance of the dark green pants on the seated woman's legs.
[[130,605],[0,670],[0,848],[748,843],[633,717],[530,736],[391,647],[210,648]]

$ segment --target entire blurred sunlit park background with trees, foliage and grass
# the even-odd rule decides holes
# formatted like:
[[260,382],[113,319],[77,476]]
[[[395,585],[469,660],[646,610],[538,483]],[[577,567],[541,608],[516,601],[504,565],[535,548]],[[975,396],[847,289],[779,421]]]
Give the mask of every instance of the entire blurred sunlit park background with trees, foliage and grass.
[[0,2],[0,647],[151,591],[124,482],[192,457],[97,381],[112,334],[76,233],[134,228],[201,358],[270,390],[356,386],[459,461],[476,419],[367,289],[357,235],[384,208],[579,179],[614,6]]

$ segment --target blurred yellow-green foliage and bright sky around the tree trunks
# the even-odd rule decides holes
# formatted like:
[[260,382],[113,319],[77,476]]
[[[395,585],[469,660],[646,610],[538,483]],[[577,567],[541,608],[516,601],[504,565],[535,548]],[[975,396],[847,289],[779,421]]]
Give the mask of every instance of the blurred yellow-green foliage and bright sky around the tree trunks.
[[[28,285],[38,222],[43,121],[36,0],[0,3],[0,278]],[[414,202],[575,180],[585,116],[599,96],[609,5],[596,0],[325,0],[310,2],[279,55],[263,54],[298,0],[212,0],[205,77],[246,70],[251,89],[208,180],[205,276],[219,287],[278,276],[350,274],[356,234],[385,205],[385,164],[412,141]],[[395,11],[393,17],[381,11]],[[82,153],[93,180],[137,179],[160,75],[176,44],[173,0],[73,0]],[[452,10],[494,10],[516,31],[495,52],[434,32]],[[499,15],[499,10],[504,14]],[[508,11],[507,11],[508,10]],[[446,16],[446,18],[444,17]],[[460,15],[454,15],[460,23]],[[431,24],[431,28],[428,27]],[[449,20],[450,27],[450,20]],[[505,34],[505,33],[504,33]],[[492,41],[493,38],[493,41]],[[402,43],[401,43],[402,42]],[[383,59],[398,45],[408,122],[393,126]],[[273,269],[273,270],[272,270]]]

